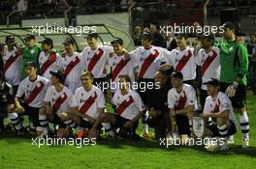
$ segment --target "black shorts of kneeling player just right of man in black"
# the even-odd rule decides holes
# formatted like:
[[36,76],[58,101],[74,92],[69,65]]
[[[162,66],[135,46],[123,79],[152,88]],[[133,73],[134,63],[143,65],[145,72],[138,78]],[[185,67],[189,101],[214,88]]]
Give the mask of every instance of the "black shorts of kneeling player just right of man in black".
[[176,115],[176,127],[177,127],[179,134],[190,135],[190,133],[191,133],[187,116],[177,114]]

